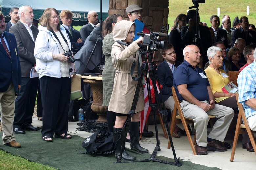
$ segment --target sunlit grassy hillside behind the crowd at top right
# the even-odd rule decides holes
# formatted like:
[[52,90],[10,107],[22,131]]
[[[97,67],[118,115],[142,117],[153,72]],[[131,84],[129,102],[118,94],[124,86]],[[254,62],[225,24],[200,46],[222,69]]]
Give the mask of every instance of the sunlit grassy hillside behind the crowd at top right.
[[[217,8],[220,8],[220,20],[223,15],[229,15],[231,24],[236,16],[247,16],[247,6],[250,6],[249,23],[256,24],[256,1],[255,0],[205,0],[204,4],[199,4],[200,21],[211,26],[210,16],[217,15]],[[187,13],[188,7],[193,6],[192,0],[169,0],[168,24],[173,26],[173,21],[177,15]]]

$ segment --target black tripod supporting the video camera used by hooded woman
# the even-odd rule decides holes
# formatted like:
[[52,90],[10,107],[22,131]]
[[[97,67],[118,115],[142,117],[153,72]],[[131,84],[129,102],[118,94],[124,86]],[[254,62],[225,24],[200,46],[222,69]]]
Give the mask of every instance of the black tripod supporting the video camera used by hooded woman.
[[[143,52],[144,53],[144,52]],[[144,53],[145,54],[145,53]],[[156,141],[157,141],[157,144],[156,144],[156,147],[152,153],[152,155],[150,156],[149,159],[143,159],[143,160],[135,160],[135,161],[126,161],[126,162],[121,162],[121,156],[122,156],[122,153],[123,153],[123,149],[124,149],[124,144],[125,144],[125,140],[123,140],[123,143],[122,143],[122,149],[120,151],[120,155],[117,157],[117,162],[115,163],[128,163],[128,162],[148,162],[148,161],[153,161],[153,162],[160,162],[160,163],[165,163],[165,164],[170,164],[170,165],[175,165],[175,166],[181,166],[182,164],[179,163],[179,159],[180,158],[177,158],[176,157],[176,154],[175,154],[175,150],[174,150],[174,146],[173,146],[173,142],[172,142],[172,138],[171,138],[171,134],[170,134],[170,130],[169,130],[169,126],[168,126],[168,123],[167,123],[167,118],[166,116],[168,115],[168,112],[166,111],[166,108],[165,108],[165,105],[164,105],[164,102],[162,102],[162,105],[163,105],[163,109],[161,108],[161,102],[160,102],[160,99],[158,97],[158,90],[157,90],[157,85],[156,85],[156,81],[158,81],[158,77],[157,77],[157,72],[156,72],[156,64],[151,62],[151,58],[153,58],[153,53],[148,53],[149,57],[149,62],[147,63],[146,61],[142,64],[141,66],[141,70],[142,70],[142,75],[147,75],[147,78],[146,78],[146,81],[147,81],[147,90],[148,90],[148,99],[149,99],[149,106],[151,107],[151,109],[153,109],[154,111],[154,120],[155,120],[155,129],[156,129]],[[125,122],[125,126],[126,127],[129,127],[129,124],[131,122],[131,118],[132,116],[134,115],[135,113],[135,109],[136,109],[136,105],[137,105],[137,102],[138,102],[138,99],[139,99],[139,91],[140,91],[140,88],[141,88],[141,84],[142,84],[142,80],[143,80],[144,76],[141,76],[139,78],[139,81],[137,83],[137,86],[136,86],[136,90],[135,90],[135,94],[134,94],[134,98],[133,98],[133,102],[132,102],[132,107],[131,107],[131,110],[129,111],[128,115],[128,119],[126,120]],[[149,80],[151,78],[151,81],[152,81],[152,84],[153,84],[153,89],[154,89],[154,92],[155,92],[155,103],[152,103],[151,101],[151,93],[150,93],[150,84],[149,84]],[[160,84],[158,83],[158,86],[160,87]],[[160,90],[160,95],[162,96],[162,92],[161,92],[161,89]],[[170,140],[170,143],[171,143],[171,147],[172,147],[172,152],[173,152],[173,156],[174,156],[174,161],[175,162],[168,162],[168,161],[163,161],[163,160],[159,160],[159,159],[156,159],[155,156],[157,154],[157,151],[161,150],[160,149],[160,142],[159,142],[159,139],[158,139],[158,130],[157,130],[157,120],[156,120],[156,109],[159,109],[159,113],[164,117],[164,121],[165,121],[165,125],[166,125],[166,129],[168,131],[168,136],[169,136],[169,140]],[[127,132],[128,132],[128,128],[126,128],[126,131],[125,131],[125,135],[127,135]]]

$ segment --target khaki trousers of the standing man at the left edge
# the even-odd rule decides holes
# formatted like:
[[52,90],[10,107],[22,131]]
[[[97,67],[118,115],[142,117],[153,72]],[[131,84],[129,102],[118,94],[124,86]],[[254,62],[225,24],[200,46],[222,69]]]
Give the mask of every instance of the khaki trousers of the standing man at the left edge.
[[14,109],[15,91],[13,84],[11,83],[6,92],[0,92],[0,111],[4,144],[15,140],[13,134]]

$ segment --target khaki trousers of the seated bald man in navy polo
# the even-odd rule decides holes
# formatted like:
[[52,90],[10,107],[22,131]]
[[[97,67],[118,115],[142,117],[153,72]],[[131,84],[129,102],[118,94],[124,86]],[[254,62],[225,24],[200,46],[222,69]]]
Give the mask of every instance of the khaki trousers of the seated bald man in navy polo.
[[[201,101],[209,104],[208,101]],[[207,146],[207,125],[209,122],[209,116],[216,116],[218,120],[215,122],[209,138],[223,142],[230,123],[234,117],[234,110],[222,105],[215,104],[215,107],[207,113],[198,107],[197,105],[191,104],[188,101],[181,101],[181,108],[185,118],[192,119],[194,121],[194,128],[196,130],[197,145],[206,147]]]

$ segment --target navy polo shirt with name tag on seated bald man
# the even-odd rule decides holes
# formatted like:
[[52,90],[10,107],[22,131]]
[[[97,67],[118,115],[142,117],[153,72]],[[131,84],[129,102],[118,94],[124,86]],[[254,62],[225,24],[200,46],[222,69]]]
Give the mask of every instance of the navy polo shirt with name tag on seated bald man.
[[177,86],[187,84],[187,89],[199,101],[209,101],[207,86],[210,86],[203,69],[194,67],[186,60],[179,65],[173,74],[173,86],[176,89],[178,99],[185,100],[178,92]]

